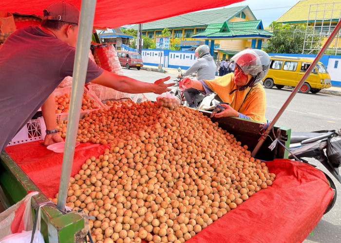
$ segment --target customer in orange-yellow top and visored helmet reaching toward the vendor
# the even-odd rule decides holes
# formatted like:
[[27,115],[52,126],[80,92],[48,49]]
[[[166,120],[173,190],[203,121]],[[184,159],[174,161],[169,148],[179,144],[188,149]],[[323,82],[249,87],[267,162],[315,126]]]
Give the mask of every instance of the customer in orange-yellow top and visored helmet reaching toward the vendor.
[[185,78],[179,87],[194,87],[203,93],[215,92],[226,109],[216,117],[240,117],[253,121],[265,122],[265,90],[260,82],[265,77],[270,58],[264,51],[244,50],[234,55],[234,73],[229,73],[214,80],[192,80]]

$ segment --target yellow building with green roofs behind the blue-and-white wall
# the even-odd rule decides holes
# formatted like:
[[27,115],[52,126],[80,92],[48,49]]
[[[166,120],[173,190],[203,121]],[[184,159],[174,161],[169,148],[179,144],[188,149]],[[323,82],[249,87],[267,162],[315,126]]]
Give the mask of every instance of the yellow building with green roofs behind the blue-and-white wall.
[[[180,50],[193,50],[206,43],[211,52],[214,49],[214,58],[219,60],[245,48],[260,48],[262,39],[271,36],[248,6],[204,10],[143,23],[142,35],[155,39],[165,28],[171,32],[171,42],[181,39]],[[133,29],[137,30],[137,25]]]

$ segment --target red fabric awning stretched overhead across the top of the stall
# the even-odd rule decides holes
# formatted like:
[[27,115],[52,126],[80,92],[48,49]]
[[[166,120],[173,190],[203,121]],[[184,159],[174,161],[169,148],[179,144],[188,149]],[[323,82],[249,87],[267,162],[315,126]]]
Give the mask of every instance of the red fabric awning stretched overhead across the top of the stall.
[[[42,15],[56,0],[1,0],[0,9],[10,13]],[[81,0],[65,0],[80,9]],[[145,23],[161,18],[204,9],[227,6],[241,0],[97,0],[94,26],[116,28],[125,24]],[[200,24],[200,23],[199,23]]]

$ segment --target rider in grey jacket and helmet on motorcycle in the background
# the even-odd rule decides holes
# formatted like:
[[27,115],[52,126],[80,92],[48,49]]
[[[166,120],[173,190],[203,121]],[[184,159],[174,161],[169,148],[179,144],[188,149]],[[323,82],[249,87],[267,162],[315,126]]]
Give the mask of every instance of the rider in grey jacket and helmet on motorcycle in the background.
[[[211,80],[215,78],[215,63],[213,57],[209,54],[208,45],[201,45],[195,49],[195,56],[199,59],[185,72],[179,74],[178,77],[188,76],[189,74],[197,71],[198,80]],[[188,88],[184,90],[184,96],[186,98],[189,107],[198,106],[198,102],[202,100],[200,91],[195,88]]]

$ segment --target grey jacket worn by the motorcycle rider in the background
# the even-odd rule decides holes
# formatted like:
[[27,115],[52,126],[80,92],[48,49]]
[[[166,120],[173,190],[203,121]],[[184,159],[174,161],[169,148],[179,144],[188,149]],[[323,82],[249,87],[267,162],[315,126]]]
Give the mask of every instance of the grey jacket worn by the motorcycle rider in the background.
[[196,72],[198,74],[198,80],[212,80],[215,79],[215,70],[217,67],[213,61],[213,57],[210,54],[204,55],[199,58],[192,67],[190,67],[183,76]]

